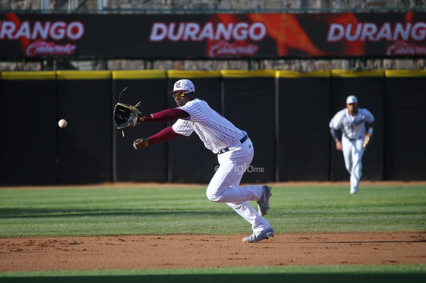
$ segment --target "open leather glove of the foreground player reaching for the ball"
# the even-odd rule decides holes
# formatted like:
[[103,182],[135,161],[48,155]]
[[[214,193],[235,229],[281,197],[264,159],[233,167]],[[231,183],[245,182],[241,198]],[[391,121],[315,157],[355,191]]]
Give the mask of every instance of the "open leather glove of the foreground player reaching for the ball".
[[[124,103],[117,103],[113,111],[113,119],[117,129],[122,129],[126,127],[136,126],[141,121],[139,118],[144,118],[141,111],[139,111],[138,106],[141,102],[138,102],[135,106],[127,105]],[[124,136],[124,131],[123,136]]]

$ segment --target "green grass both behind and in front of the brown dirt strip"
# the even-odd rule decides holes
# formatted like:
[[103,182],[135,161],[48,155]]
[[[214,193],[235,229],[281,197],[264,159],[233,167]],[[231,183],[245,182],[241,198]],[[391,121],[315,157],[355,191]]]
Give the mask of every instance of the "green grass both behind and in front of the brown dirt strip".
[[[272,194],[268,221],[276,233],[426,230],[425,185],[362,186],[358,195],[349,195],[347,186],[283,186],[274,187]],[[38,235],[250,231],[249,224],[226,204],[209,202],[205,187],[0,189],[0,241]],[[210,282],[218,278],[229,282],[424,281],[426,266],[0,272],[2,282]]]

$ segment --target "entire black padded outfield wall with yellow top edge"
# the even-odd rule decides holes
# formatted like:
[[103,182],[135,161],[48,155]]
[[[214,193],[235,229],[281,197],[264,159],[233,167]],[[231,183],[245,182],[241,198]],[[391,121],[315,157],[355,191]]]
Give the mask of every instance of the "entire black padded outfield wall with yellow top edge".
[[[0,185],[115,181],[207,183],[218,156],[193,133],[135,150],[133,141],[173,122],[121,130],[120,102],[151,114],[176,104],[167,93],[191,79],[196,97],[248,133],[255,154],[242,183],[349,182],[328,123],[348,95],[375,117],[363,180],[426,179],[426,71],[42,71],[2,72]],[[423,116],[422,116],[423,115]],[[66,128],[58,127],[66,119]]]

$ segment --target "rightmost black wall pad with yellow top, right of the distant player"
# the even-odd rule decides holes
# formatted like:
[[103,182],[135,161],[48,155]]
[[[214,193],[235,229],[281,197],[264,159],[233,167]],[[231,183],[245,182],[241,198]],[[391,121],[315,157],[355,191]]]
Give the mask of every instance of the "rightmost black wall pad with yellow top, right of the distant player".
[[387,71],[385,178],[426,179],[426,70]]

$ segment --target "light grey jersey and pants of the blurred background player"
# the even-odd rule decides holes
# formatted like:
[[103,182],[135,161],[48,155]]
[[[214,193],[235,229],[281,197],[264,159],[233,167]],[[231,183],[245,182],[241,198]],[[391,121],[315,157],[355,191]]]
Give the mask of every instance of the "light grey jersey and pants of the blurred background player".
[[365,122],[372,123],[374,116],[365,108],[358,108],[354,117],[348,109],[337,112],[329,123],[329,127],[342,131],[342,149],[345,159],[345,167],[351,174],[351,194],[358,192],[359,182],[362,176],[362,156],[365,148],[362,143],[365,137]]

